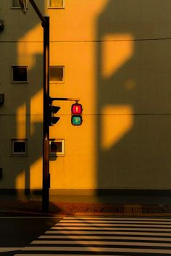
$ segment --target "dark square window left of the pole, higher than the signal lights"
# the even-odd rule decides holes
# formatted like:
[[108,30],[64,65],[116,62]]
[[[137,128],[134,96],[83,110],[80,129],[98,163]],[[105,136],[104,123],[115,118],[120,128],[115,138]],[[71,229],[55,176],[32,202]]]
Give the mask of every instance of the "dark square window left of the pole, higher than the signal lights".
[[27,83],[28,67],[13,66],[12,67],[12,83]]

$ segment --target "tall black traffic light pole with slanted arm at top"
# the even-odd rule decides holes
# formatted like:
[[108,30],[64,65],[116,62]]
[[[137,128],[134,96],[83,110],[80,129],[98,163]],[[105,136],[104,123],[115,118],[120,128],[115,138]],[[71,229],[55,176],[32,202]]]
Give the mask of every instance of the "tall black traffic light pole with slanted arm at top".
[[43,189],[42,211],[49,212],[49,17],[43,17],[33,0],[29,0],[43,27]]

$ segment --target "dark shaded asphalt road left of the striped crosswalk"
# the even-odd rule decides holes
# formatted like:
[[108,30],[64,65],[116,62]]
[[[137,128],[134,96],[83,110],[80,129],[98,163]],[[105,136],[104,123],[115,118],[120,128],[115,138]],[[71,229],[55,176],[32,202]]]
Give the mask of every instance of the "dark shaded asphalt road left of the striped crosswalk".
[[0,255],[12,256],[28,246],[62,218],[42,216],[0,216]]

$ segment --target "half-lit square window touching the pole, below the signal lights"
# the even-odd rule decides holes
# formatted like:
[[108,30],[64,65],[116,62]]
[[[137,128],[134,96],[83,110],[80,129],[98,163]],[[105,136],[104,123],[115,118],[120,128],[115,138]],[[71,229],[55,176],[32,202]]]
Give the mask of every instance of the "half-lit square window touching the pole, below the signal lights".
[[49,141],[49,156],[64,156],[64,139],[51,139]]

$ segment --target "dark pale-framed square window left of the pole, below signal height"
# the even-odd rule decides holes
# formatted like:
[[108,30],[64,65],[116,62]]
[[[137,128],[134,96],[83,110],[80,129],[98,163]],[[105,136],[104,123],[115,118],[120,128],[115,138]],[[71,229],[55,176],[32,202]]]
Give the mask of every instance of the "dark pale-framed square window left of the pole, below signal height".
[[28,141],[27,139],[12,139],[12,156],[25,157],[28,153]]

